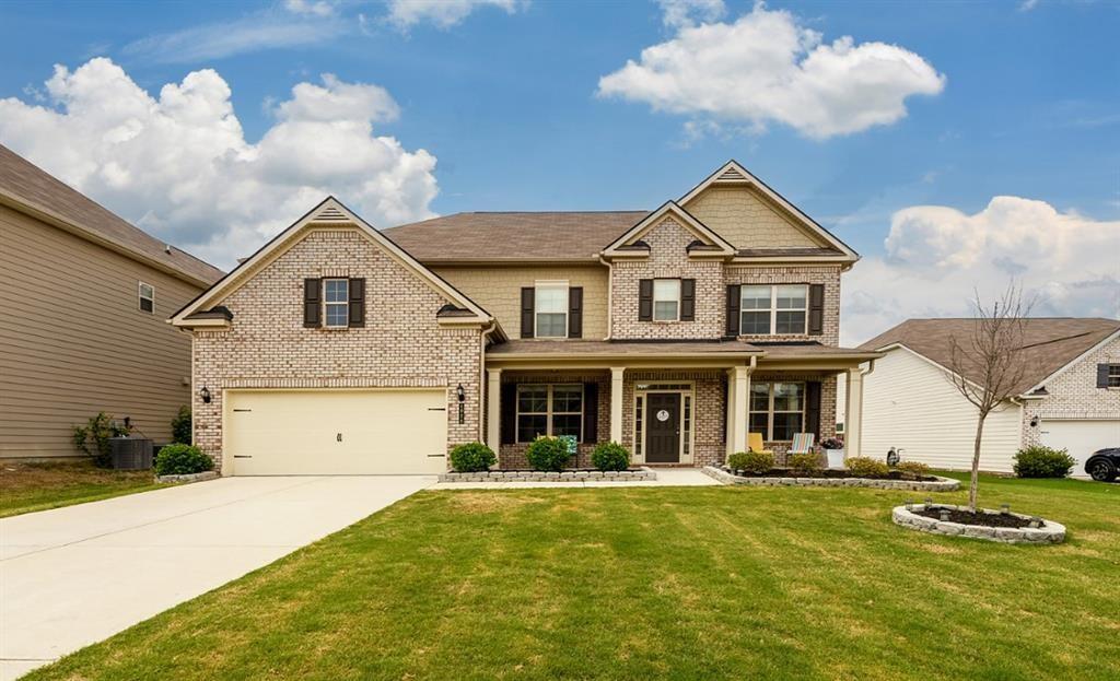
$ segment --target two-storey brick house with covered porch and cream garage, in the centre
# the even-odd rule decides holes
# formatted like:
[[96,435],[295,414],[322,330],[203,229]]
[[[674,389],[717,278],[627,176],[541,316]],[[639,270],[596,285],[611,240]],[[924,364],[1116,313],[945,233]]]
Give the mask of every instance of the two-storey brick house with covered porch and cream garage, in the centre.
[[171,321],[225,475],[431,473],[473,440],[521,467],[540,435],[716,464],[748,428],[833,435],[837,375],[878,356],[838,347],[857,260],[732,161],[653,212],[379,232],[328,198]]

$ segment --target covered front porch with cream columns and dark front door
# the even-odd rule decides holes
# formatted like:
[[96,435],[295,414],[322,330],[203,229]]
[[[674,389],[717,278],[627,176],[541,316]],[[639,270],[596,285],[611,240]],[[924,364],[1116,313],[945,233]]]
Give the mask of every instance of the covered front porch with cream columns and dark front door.
[[575,436],[575,467],[590,466],[595,446],[606,441],[629,449],[634,465],[699,467],[745,450],[755,431],[781,463],[794,433],[813,432],[816,442],[836,435],[837,376],[847,373],[856,385],[848,455],[858,456],[866,357],[818,347],[523,342],[492,348],[486,441],[503,468],[528,467],[525,449],[540,435]]

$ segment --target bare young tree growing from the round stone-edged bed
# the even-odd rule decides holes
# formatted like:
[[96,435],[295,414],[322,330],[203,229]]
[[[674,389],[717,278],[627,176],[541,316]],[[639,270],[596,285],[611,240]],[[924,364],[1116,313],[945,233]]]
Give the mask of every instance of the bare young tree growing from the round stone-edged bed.
[[990,306],[984,305],[977,291],[973,307],[976,324],[971,334],[949,339],[949,379],[977,410],[969,485],[969,509],[976,511],[983,422],[989,413],[1023,389],[1027,371],[1027,363],[1021,358],[1024,333],[1033,301],[1024,300],[1023,289],[1012,281]]

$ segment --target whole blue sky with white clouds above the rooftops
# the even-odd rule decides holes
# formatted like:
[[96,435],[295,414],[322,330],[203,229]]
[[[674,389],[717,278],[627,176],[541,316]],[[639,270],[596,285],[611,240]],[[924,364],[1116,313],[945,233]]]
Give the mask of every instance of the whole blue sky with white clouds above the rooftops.
[[[221,265],[321,192],[386,226],[473,209],[652,208],[735,158],[865,255],[847,279],[846,305],[864,320],[853,338],[903,316],[960,312],[971,287],[988,291],[1010,274],[1044,292],[1046,312],[1118,315],[1120,272],[1099,255],[1120,253],[1120,3],[410,4],[8,2],[0,142]],[[801,78],[794,84],[741,75],[774,71],[757,60],[781,49],[744,47],[771,31],[697,32],[764,20],[805,41],[785,64]],[[857,53],[878,49],[897,67],[861,75],[877,67],[841,55],[839,71],[805,76],[806,57],[846,36]],[[657,45],[672,49],[668,65],[643,62],[642,50]],[[80,82],[95,57],[116,71]],[[694,77],[706,58],[725,69],[711,81]],[[600,85],[627,60],[634,77]],[[56,64],[67,72],[52,90]],[[915,64],[927,73],[914,75]],[[189,133],[159,137],[151,131],[162,119],[150,112],[86,114],[128,99],[104,94],[125,87],[118,72],[156,101],[165,85],[203,69],[216,78],[200,113],[169,113],[165,102],[160,114],[189,119]],[[651,74],[664,82],[646,86]],[[308,88],[293,94],[300,83]],[[890,113],[892,97],[904,113]],[[329,103],[300,114],[305,101]],[[319,120],[335,109],[338,120]],[[828,113],[806,113],[818,109]],[[892,120],[852,122],[878,113]],[[127,151],[88,142],[130,125],[155,137]],[[347,140],[363,127],[368,136]],[[160,151],[195,134],[190,158]],[[370,141],[377,138],[392,142]],[[67,151],[63,140],[73,140]],[[347,150],[361,159],[335,156]],[[329,168],[311,168],[319,153]],[[165,162],[149,168],[152,158]],[[204,175],[214,184],[198,181]],[[228,195],[215,199],[207,186]],[[254,197],[264,207],[243,205]],[[1072,254],[1038,264],[1055,251]],[[884,278],[921,300],[872,305]],[[945,282],[952,300],[917,293]]]

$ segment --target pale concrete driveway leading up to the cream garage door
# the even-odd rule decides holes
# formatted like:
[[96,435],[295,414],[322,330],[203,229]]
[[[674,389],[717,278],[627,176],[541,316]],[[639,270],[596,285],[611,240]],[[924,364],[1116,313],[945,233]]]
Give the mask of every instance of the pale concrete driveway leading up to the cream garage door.
[[102,641],[435,482],[222,478],[0,520],[0,679]]

